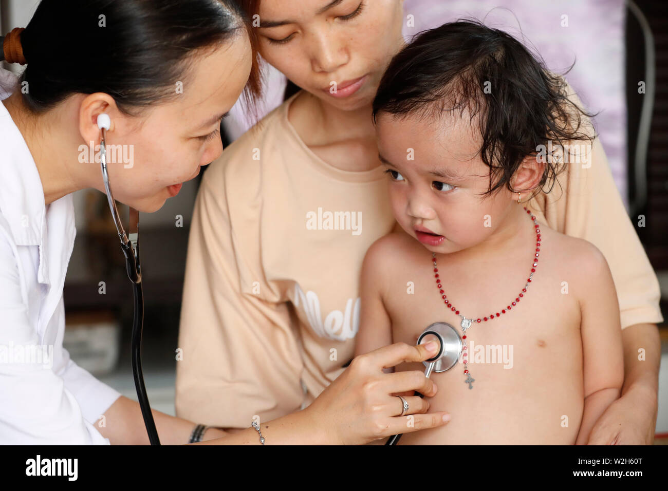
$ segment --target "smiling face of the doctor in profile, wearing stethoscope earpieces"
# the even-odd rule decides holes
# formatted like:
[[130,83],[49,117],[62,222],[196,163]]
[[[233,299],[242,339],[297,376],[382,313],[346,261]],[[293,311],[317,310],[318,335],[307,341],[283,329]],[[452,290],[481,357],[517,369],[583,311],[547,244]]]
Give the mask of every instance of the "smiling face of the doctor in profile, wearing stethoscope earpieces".
[[[244,89],[251,63],[251,44],[244,33],[214,51],[194,55],[184,80],[174,80],[175,99],[136,117],[110,108],[112,128],[106,144],[114,198],[154,212],[176,196],[182,182],[218,158],[220,120]],[[109,162],[112,145],[118,146],[115,162]],[[121,154],[132,156],[132,162],[118,157]],[[94,172],[94,187],[104,192],[99,165]]]

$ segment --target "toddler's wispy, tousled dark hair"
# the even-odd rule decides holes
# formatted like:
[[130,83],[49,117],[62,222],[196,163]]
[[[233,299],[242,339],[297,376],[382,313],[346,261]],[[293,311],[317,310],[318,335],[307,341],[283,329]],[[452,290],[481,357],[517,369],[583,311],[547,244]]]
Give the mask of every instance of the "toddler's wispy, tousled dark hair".
[[[379,112],[437,119],[452,110],[478,117],[480,156],[490,167],[484,196],[502,186],[516,192],[513,174],[540,145],[556,152],[570,140],[595,138],[582,119],[593,114],[568,99],[566,81],[514,37],[478,21],[460,19],[419,33],[395,55],[373,101],[373,121]],[[556,155],[547,157],[534,194],[563,170]]]

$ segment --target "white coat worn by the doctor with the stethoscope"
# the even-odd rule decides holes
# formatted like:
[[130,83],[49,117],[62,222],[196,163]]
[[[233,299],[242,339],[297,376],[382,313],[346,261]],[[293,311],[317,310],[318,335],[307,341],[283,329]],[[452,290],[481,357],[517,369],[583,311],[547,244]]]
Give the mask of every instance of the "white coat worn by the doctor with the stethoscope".
[[[16,82],[0,69],[0,100]],[[120,393],[63,349],[75,234],[72,196],[45,206],[35,161],[0,103],[0,444],[109,444],[96,426]],[[51,346],[51,359],[41,356]]]

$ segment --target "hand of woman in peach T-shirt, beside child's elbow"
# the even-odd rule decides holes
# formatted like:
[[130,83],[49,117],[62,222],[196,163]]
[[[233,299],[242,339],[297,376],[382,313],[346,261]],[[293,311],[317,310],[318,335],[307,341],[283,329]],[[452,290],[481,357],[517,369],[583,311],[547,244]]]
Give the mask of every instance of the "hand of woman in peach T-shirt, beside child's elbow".
[[629,389],[597,420],[587,445],[651,445],[656,415],[656,393]]

